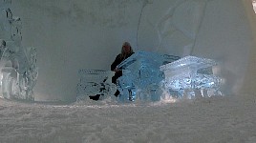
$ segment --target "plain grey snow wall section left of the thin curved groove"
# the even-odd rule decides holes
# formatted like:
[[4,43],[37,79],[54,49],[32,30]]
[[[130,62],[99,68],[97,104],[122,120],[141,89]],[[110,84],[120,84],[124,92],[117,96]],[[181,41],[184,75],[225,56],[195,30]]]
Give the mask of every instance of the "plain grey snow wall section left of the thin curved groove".
[[38,48],[35,100],[75,100],[78,70],[110,70],[123,41],[136,43],[139,0],[13,0],[24,44]]

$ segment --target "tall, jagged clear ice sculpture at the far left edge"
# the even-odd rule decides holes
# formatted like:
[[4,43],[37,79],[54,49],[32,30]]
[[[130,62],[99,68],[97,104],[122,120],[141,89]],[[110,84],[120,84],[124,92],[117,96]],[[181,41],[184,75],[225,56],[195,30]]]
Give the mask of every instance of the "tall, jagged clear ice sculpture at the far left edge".
[[33,101],[36,51],[22,47],[21,19],[12,16],[10,6],[11,0],[0,0],[0,97]]

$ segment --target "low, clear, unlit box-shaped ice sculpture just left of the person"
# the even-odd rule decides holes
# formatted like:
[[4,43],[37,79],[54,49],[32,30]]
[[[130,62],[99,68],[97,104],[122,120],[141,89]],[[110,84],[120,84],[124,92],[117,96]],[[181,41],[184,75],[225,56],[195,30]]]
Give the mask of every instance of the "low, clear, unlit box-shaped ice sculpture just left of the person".
[[76,101],[86,100],[90,95],[99,95],[99,100],[113,95],[117,86],[111,82],[114,72],[100,70],[79,70]]

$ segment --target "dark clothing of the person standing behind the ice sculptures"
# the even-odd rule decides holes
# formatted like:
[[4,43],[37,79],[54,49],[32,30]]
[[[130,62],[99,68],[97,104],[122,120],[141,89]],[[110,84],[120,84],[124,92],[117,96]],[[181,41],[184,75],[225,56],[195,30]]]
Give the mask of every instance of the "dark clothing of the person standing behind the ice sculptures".
[[[122,61],[124,61],[126,58],[130,57],[134,52],[131,52],[126,57],[121,58],[121,54],[119,53],[115,59],[115,61],[111,64],[111,71],[114,71],[117,68],[117,65],[119,65]],[[112,77],[112,83],[117,84],[117,78],[122,75],[122,72],[116,72],[115,75]]]

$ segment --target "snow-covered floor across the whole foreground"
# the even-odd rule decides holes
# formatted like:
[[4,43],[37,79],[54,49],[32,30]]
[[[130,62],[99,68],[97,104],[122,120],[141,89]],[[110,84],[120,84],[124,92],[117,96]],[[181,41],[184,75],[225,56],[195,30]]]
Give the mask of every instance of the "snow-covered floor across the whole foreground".
[[0,100],[1,143],[255,143],[256,96],[51,105]]

